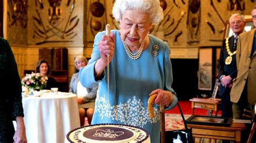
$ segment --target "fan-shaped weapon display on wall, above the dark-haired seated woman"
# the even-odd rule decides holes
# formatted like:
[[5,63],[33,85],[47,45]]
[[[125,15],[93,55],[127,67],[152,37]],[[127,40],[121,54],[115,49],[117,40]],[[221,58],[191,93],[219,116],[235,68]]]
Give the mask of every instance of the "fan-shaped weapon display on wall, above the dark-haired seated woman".
[[33,17],[33,39],[36,45],[53,42],[73,42],[77,37],[76,28],[79,16],[74,15],[75,2],[64,3],[61,0],[49,0],[49,6],[42,0],[36,0],[36,15]]

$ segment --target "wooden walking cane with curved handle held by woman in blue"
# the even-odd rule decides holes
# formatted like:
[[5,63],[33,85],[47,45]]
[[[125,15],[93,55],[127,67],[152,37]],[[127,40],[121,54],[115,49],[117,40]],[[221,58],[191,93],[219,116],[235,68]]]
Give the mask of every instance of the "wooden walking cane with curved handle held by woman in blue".
[[[152,103],[154,99],[156,99],[157,94],[151,95],[147,100],[147,110],[149,110],[150,118],[154,117],[154,109],[152,107]],[[160,140],[161,143],[165,143],[165,116],[164,116],[164,105],[160,106]]]

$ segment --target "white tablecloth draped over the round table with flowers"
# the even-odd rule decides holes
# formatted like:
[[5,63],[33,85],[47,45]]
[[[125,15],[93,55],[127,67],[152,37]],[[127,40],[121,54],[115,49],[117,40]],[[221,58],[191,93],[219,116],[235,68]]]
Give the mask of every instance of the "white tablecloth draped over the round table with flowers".
[[79,127],[75,94],[43,94],[22,98],[28,142],[67,142],[66,134]]

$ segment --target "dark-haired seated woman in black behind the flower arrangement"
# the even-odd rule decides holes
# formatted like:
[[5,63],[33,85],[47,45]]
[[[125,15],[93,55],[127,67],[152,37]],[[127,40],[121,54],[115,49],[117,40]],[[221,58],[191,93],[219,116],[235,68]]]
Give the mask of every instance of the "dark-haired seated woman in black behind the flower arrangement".
[[47,80],[46,87],[44,89],[51,89],[56,87],[56,80],[53,77],[49,77],[51,68],[49,63],[45,60],[39,60],[36,65],[36,73],[40,73],[41,76],[44,76]]

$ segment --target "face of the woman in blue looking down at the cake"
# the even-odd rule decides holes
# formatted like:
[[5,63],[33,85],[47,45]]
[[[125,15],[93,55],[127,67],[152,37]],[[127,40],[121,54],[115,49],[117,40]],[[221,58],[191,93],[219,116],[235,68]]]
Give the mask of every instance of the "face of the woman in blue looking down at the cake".
[[129,47],[139,47],[150,31],[151,23],[149,13],[127,10],[122,15],[120,27],[121,39],[124,40]]

